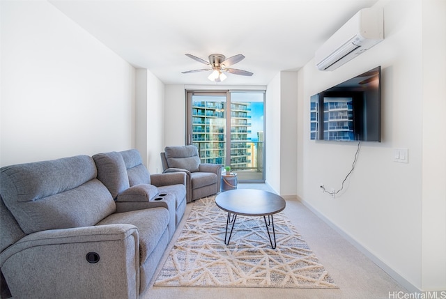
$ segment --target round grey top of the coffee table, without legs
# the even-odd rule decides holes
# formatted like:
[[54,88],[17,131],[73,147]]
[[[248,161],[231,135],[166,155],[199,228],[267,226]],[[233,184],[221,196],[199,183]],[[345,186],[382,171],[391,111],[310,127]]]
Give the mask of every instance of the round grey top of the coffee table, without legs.
[[245,216],[266,216],[284,210],[285,199],[277,194],[254,189],[236,189],[215,197],[215,204],[229,213]]

